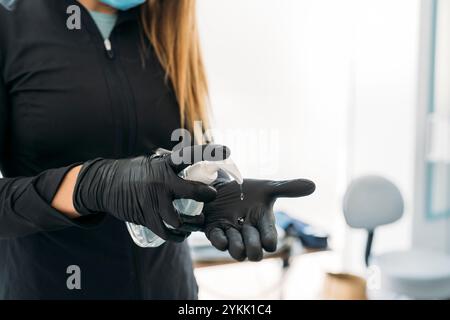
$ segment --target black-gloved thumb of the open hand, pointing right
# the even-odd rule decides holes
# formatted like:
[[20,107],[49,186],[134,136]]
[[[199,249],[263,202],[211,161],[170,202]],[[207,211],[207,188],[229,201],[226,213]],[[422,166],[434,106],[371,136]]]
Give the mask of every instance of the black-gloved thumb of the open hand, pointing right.
[[274,198],[309,196],[316,190],[314,182],[305,179],[269,182],[269,193]]

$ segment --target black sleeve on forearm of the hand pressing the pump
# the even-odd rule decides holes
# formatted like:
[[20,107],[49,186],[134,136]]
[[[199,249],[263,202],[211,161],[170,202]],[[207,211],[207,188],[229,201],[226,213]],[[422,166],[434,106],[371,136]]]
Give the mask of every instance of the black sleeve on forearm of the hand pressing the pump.
[[[7,103],[6,88],[0,72],[0,170],[7,157]],[[76,164],[47,170],[36,177],[0,178],[0,238],[21,237],[70,226],[97,225],[103,218],[101,214],[72,220],[50,205],[66,173],[74,166]]]

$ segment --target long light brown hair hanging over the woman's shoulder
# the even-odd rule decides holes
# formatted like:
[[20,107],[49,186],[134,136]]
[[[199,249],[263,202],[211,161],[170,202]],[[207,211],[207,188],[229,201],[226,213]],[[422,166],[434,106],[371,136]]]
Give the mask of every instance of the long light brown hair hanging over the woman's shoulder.
[[175,90],[183,127],[209,126],[208,85],[200,52],[195,0],[147,0],[141,23],[145,36]]

